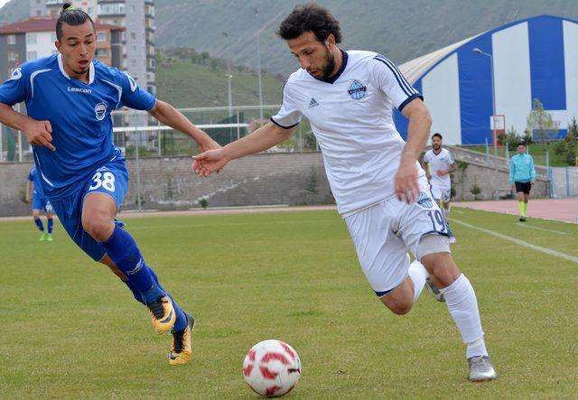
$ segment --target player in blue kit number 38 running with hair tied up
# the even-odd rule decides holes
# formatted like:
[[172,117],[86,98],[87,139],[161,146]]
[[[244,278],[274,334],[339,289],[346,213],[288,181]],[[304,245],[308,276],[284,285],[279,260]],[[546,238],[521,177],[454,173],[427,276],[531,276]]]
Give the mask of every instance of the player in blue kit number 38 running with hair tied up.
[[[21,130],[33,145],[42,189],[72,240],[144,303],[156,332],[172,331],[169,362],[186,364],[194,319],[159,283],[135,239],[115,219],[128,188],[128,171],[112,141],[111,112],[120,107],[146,110],[191,136],[200,151],[219,144],[126,73],[93,60],[97,36],[88,14],[64,4],[56,36],[58,55],[23,63],[0,86],[0,123]],[[22,101],[27,116],[12,108]]]

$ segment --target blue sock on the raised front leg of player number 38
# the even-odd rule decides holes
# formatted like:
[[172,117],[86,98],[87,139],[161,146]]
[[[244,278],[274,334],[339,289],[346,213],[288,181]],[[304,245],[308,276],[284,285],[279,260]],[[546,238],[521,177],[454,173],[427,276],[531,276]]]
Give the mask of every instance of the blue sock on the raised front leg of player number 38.
[[112,235],[101,245],[107,249],[107,255],[118,269],[126,274],[135,290],[143,293],[144,303],[154,302],[164,295],[163,290],[156,284],[150,273],[150,269],[144,264],[135,239],[128,232],[116,226]]

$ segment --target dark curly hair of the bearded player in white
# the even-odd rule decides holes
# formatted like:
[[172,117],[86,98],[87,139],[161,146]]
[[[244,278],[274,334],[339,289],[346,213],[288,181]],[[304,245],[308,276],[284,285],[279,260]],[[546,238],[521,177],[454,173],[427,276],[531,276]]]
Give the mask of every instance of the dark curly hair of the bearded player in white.
[[330,34],[335,38],[335,42],[341,42],[339,21],[331,15],[327,8],[314,3],[297,5],[279,25],[277,34],[288,41],[307,32],[314,33],[319,42],[324,42]]

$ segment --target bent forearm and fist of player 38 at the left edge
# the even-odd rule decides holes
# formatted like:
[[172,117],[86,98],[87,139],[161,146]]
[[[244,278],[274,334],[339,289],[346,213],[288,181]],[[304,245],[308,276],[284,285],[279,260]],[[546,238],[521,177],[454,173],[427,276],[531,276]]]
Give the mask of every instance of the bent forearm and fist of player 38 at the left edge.
[[50,121],[37,121],[30,116],[24,116],[15,111],[13,107],[0,103],[0,124],[22,131],[26,142],[36,146],[45,146],[56,150],[51,144],[52,126]]

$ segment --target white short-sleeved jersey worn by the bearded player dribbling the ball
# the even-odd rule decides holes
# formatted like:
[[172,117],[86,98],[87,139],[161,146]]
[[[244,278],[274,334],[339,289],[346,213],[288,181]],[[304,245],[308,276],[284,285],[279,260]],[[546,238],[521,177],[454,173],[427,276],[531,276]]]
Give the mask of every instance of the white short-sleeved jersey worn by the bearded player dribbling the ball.
[[[290,128],[306,116],[322,149],[325,172],[344,216],[395,196],[394,176],[406,144],[396,131],[400,111],[422,98],[395,64],[371,51],[342,51],[331,79],[295,71],[283,89],[283,105],[271,120]],[[415,163],[420,179],[425,174]]]

